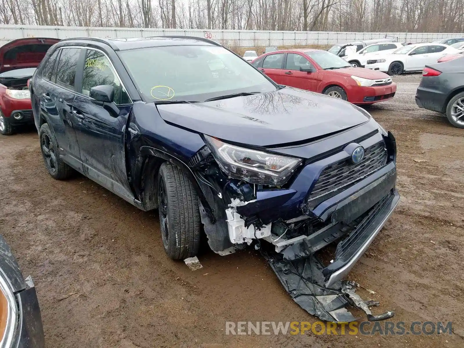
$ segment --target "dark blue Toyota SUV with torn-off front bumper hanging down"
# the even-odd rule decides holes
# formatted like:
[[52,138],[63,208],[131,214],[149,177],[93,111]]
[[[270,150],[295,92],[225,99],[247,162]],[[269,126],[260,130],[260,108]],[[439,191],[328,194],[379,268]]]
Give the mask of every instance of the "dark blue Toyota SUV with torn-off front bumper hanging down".
[[195,256],[204,231],[221,255],[253,244],[324,320],[355,320],[348,304],[393,316],[343,280],[400,199],[395,139],[365,110],[192,37],[64,39],[29,88],[52,177],[74,168],[158,209],[170,258]]

